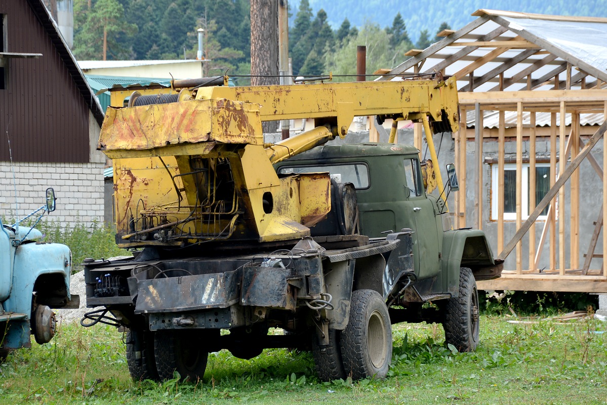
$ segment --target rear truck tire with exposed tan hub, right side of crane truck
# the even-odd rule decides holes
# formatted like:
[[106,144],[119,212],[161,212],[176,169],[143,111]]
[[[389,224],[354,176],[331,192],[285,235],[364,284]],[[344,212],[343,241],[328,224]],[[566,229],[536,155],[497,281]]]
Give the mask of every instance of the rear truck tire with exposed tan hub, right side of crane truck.
[[352,293],[350,319],[341,333],[344,369],[352,379],[385,378],[392,361],[392,324],[375,290]]

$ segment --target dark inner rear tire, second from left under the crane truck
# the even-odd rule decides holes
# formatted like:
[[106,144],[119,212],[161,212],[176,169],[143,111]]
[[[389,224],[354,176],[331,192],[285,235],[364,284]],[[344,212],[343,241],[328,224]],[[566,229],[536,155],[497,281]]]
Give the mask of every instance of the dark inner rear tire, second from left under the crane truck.
[[154,336],[154,356],[158,376],[172,379],[179,373],[181,381],[198,381],[205,375],[209,353],[202,333],[193,331],[161,331]]

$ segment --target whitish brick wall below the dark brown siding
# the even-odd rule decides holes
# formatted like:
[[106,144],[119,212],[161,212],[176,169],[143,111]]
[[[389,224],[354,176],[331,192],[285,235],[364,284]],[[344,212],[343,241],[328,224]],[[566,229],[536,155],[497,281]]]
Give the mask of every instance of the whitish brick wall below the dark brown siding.
[[52,187],[56,210],[47,220],[103,222],[103,168],[103,163],[0,162],[0,216],[26,216],[44,205]]

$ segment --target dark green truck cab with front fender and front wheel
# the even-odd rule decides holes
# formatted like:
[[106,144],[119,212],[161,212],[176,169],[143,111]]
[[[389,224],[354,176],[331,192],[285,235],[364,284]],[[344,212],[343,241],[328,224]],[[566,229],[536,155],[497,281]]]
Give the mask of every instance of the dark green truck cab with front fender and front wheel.
[[[455,170],[449,166],[449,182],[440,190],[443,193],[458,189]],[[458,350],[476,348],[479,317],[475,281],[500,277],[503,261],[493,259],[483,231],[443,229],[447,209],[443,199],[425,191],[418,149],[392,143],[325,145],[275,168],[279,175],[329,172],[338,183],[352,183],[358,233],[372,241],[410,230],[413,274],[401,277],[401,290],[388,299],[392,323],[439,322],[444,325],[448,343]],[[398,252],[403,248],[409,246],[401,244],[390,254],[386,273],[396,273],[402,267],[397,258],[404,254]],[[426,308],[423,304],[430,301],[436,305]]]

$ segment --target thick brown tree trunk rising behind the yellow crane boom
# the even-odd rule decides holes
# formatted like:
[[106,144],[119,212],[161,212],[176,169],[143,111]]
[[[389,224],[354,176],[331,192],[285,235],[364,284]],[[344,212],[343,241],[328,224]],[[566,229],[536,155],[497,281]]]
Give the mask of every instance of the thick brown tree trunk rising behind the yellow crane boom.
[[[251,0],[251,84],[279,84],[278,1]],[[279,121],[263,123],[263,132],[276,132]]]

